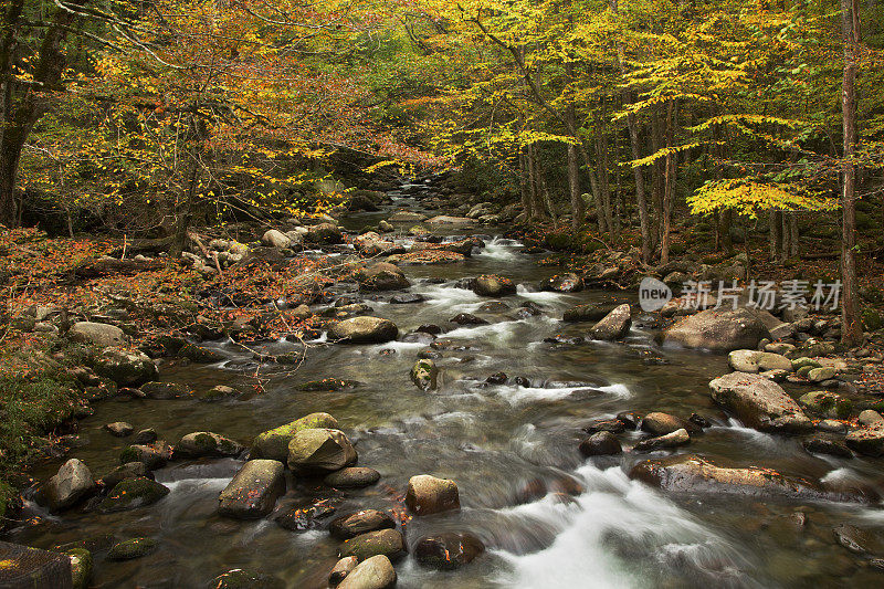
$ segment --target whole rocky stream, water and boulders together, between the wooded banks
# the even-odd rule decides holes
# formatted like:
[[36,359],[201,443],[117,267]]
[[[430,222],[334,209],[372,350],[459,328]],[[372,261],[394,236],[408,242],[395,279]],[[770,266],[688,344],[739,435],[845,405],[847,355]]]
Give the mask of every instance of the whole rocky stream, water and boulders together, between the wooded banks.
[[341,319],[313,339],[193,341],[158,371],[105,353],[127,388],[8,539],[74,550],[99,587],[881,583],[884,420],[827,317],[661,333],[493,224],[414,248],[415,186],[345,219],[386,262],[306,309]]

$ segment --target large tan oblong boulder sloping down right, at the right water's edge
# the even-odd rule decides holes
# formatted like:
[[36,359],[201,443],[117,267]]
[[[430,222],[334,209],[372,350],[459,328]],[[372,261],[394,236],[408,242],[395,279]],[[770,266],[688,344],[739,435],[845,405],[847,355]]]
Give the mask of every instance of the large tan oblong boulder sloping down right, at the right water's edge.
[[801,433],[813,423],[782,387],[759,375],[730,372],[709,382],[715,402],[760,431]]

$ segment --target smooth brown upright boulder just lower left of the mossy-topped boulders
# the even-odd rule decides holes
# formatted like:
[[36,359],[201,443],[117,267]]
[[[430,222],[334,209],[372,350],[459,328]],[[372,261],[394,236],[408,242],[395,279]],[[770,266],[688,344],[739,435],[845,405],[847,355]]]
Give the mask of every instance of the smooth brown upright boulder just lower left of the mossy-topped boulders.
[[218,512],[238,519],[264,517],[285,493],[284,471],[276,460],[250,460],[219,495]]

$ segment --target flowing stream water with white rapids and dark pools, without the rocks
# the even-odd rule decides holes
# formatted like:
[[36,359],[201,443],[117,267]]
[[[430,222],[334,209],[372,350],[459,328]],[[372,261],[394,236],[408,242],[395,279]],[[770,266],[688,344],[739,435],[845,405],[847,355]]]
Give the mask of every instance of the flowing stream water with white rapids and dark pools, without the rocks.
[[[397,208],[417,204],[398,199]],[[352,215],[360,228],[389,214]],[[440,572],[407,557],[397,565],[404,588],[644,588],[644,587],[853,587],[880,586],[874,569],[838,546],[832,526],[854,523],[881,529],[878,507],[797,504],[782,501],[672,496],[633,482],[627,473],[649,455],[585,460],[577,445],[580,428],[620,411],[667,411],[682,417],[699,412],[716,423],[695,437],[683,452],[722,463],[759,465],[810,478],[844,478],[881,488],[881,463],[866,459],[822,459],[806,453],[798,441],[746,429],[727,420],[712,403],[707,382],[727,371],[722,356],[660,349],[653,333],[635,322],[624,343],[546,343],[545,338],[581,336],[587,325],[560,322],[570,305],[618,298],[632,293],[536,292],[554,271],[539,266],[515,241],[486,235],[486,248],[465,263],[406,266],[419,304],[390,304],[390,294],[369,296],[375,315],[392,319],[404,334],[422,324],[450,330],[457,345],[436,359],[439,389],[420,391],[409,370],[425,344],[397,341],[377,346],[311,344],[298,370],[261,367],[265,392],[222,403],[191,400],[108,400],[81,423],[84,445],[71,455],[96,475],[117,464],[128,443],[102,430],[104,423],[128,421],[136,429],[154,427],[175,442],[192,431],[213,431],[248,442],[259,432],[313,411],[334,414],[357,444],[359,464],[382,474],[372,487],[337,493],[337,514],[359,508],[398,509],[408,478],[429,473],[454,478],[462,509],[413,518],[406,524],[410,546],[424,534],[472,532],[488,548],[483,557],[456,571]],[[483,299],[455,286],[457,278],[499,273],[519,283],[509,307],[483,313]],[[340,288],[346,290],[345,287]],[[634,299],[632,299],[634,302]],[[539,316],[522,318],[517,308],[534,303]],[[457,313],[475,313],[490,325],[459,327],[448,323]],[[401,339],[401,337],[400,337]],[[218,344],[229,360],[211,366],[161,367],[164,380],[187,382],[198,391],[214,385],[249,388],[259,365],[251,353]],[[296,349],[285,341],[263,349]],[[274,370],[276,374],[274,375]],[[495,372],[525,377],[524,386],[485,385]],[[296,389],[320,378],[356,380],[345,392]],[[624,445],[639,439],[627,432]],[[662,453],[651,454],[661,455]],[[36,524],[11,535],[14,541],[51,547],[112,533],[117,539],[151,536],[158,551],[128,562],[96,558],[99,587],[203,587],[231,568],[248,568],[284,579],[288,587],[324,587],[336,561],[338,543],[322,529],[296,533],[270,518],[239,522],[215,514],[218,493],[236,472],[235,460],[175,462],[156,472],[171,493],[160,503],[113,515],[39,512]],[[59,463],[40,467],[49,476]],[[538,485],[537,481],[543,484]],[[526,493],[526,486],[545,488]],[[278,506],[305,497],[326,497],[315,480],[290,478]],[[32,509],[38,509],[30,506]],[[790,514],[808,516],[803,530]]]

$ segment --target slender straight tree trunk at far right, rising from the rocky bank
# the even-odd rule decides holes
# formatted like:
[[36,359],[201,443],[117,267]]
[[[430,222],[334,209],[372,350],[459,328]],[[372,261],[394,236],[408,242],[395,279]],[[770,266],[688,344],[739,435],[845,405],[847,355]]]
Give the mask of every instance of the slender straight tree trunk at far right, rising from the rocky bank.
[[841,114],[844,132],[843,186],[841,191],[841,341],[848,347],[862,344],[863,328],[856,293],[856,45],[860,42],[857,0],[841,0],[844,42],[844,77],[841,84]]

